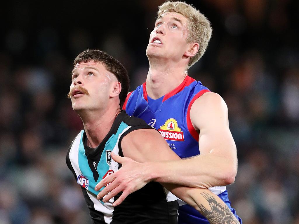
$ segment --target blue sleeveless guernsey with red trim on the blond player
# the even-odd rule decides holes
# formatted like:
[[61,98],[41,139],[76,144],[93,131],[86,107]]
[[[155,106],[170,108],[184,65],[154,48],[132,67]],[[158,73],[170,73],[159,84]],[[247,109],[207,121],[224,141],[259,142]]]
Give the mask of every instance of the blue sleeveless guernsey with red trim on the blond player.
[[[190,109],[193,102],[206,92],[210,92],[210,90],[201,82],[186,76],[174,90],[159,99],[151,99],[147,95],[146,83],[144,83],[128,94],[123,109],[130,116],[141,118],[148,125],[157,129],[179,157],[192,157],[199,155],[200,150],[198,146],[199,132],[191,123]],[[213,187],[210,188],[210,191],[218,195],[228,205],[242,224],[235,210],[231,208],[226,187]],[[179,224],[209,223],[191,206],[182,201],[179,204],[181,205]]]

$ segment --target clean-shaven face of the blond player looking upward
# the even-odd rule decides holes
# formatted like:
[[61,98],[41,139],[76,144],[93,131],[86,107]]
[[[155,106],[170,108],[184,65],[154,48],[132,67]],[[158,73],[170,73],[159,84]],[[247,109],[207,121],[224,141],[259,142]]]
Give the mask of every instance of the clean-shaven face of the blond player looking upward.
[[180,60],[188,49],[186,42],[188,19],[174,12],[162,14],[155,22],[155,28],[149,36],[147,57]]

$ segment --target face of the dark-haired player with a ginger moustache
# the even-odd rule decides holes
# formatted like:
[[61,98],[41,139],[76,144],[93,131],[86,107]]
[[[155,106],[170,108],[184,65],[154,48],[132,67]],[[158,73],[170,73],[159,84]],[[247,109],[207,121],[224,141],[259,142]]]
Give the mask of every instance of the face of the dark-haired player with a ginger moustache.
[[95,111],[106,107],[113,82],[117,78],[98,62],[81,62],[72,71],[68,97],[74,111]]

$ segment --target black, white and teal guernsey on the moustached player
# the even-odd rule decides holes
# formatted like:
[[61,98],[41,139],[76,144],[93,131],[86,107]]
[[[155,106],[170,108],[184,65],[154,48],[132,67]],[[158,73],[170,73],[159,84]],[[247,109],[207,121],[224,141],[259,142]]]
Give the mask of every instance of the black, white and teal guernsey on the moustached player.
[[151,127],[143,120],[130,117],[125,111],[122,111],[97,148],[89,148],[86,145],[87,138],[84,130],[80,131],[71,143],[66,156],[66,163],[74,174],[77,183],[81,186],[94,224],[177,223],[177,198],[157,182],[150,182],[140,190],[130,194],[115,208],[112,203],[118,199],[120,194],[105,203],[96,198],[100,191],[94,190],[95,185],[103,177],[121,167],[121,164],[111,159],[110,153],[113,151],[123,157],[121,149],[123,137],[131,131],[146,128]]

